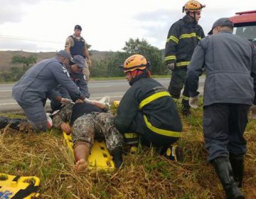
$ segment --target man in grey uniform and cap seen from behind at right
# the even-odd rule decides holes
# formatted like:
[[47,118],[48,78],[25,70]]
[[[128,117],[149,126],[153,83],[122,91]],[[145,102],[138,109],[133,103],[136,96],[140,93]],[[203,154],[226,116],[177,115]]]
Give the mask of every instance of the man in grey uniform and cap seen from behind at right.
[[250,41],[233,35],[233,23],[220,18],[201,40],[188,66],[191,107],[198,101],[198,77],[203,68],[203,134],[208,161],[213,164],[227,198],[244,198],[242,187],[247,112],[256,104],[256,54]]

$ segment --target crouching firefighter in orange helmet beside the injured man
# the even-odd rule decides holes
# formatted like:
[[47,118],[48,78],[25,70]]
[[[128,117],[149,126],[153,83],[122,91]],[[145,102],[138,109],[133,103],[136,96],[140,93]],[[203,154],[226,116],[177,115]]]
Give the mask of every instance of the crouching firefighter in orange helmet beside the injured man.
[[142,144],[159,147],[160,154],[166,149],[175,150],[173,154],[179,156],[169,158],[179,160],[181,148],[171,144],[180,138],[182,124],[171,95],[151,78],[149,63],[143,55],[130,56],[122,68],[131,87],[119,103],[115,127],[122,134],[139,134]]

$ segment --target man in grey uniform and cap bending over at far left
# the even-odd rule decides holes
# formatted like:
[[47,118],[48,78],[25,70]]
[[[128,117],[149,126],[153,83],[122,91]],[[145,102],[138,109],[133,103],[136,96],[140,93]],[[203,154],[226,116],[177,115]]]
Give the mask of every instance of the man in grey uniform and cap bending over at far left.
[[50,90],[57,85],[63,85],[73,99],[84,99],[75,83],[70,80],[65,65],[71,56],[65,50],[60,50],[56,58],[42,60],[33,65],[18,80],[12,89],[12,97],[16,99],[28,118],[28,122],[36,131],[46,131],[45,102]]

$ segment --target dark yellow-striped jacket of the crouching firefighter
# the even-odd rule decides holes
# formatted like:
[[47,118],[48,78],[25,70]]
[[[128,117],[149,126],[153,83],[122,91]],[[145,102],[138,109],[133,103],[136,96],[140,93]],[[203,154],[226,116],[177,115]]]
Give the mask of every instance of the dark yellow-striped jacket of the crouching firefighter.
[[178,138],[182,124],[176,104],[166,88],[142,73],[131,82],[132,87],[122,97],[114,124],[121,132],[156,134]]

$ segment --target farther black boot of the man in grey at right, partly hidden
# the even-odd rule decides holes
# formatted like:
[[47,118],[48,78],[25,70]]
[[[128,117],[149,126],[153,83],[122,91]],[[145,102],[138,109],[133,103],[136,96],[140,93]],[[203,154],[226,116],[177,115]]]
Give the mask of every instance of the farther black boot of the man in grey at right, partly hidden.
[[244,154],[235,155],[230,153],[229,159],[234,173],[234,180],[238,187],[242,188],[242,178],[245,170]]

